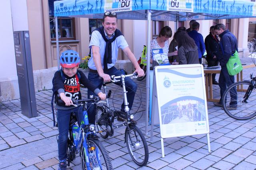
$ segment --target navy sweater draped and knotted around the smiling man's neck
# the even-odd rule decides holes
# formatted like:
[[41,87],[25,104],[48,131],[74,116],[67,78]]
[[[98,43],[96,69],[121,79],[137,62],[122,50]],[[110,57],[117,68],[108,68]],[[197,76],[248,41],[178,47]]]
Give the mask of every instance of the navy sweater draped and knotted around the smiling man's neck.
[[108,64],[112,64],[112,42],[116,40],[117,37],[123,35],[119,29],[116,29],[114,37],[107,39],[104,33],[104,27],[98,27],[95,30],[99,31],[102,35],[104,41],[106,41],[105,54],[104,54],[104,72],[108,70]]

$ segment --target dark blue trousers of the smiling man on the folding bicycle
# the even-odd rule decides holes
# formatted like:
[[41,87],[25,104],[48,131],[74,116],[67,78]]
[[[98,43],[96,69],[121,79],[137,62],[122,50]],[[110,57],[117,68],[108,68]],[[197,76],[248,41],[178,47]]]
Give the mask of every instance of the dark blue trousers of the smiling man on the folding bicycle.
[[[124,74],[124,72],[122,72],[121,70],[116,69],[113,66],[110,69],[108,69],[106,74],[109,74],[110,76],[112,76],[112,75],[120,76],[121,74]],[[95,86],[97,86],[99,89],[101,89],[103,78],[101,78],[98,73],[89,72],[88,79],[90,81],[92,81],[92,83]],[[128,107],[131,109],[132,104],[133,104],[133,100],[134,100],[134,96],[135,96],[135,93],[136,93],[136,90],[137,90],[137,84],[129,77],[124,78],[124,80],[125,80],[125,86],[126,86],[126,91],[127,91],[127,93],[126,93],[127,100],[128,100],[128,103],[129,103]],[[118,85],[118,86],[121,86],[122,81],[116,82],[115,84]],[[94,92],[92,92],[88,89],[88,98],[90,97],[90,95],[97,96],[97,94],[94,94]],[[121,111],[124,111],[124,102],[121,106]],[[96,106],[95,105],[91,106],[87,110],[87,112],[88,112],[89,123],[94,124],[95,123],[95,115],[96,115]]]

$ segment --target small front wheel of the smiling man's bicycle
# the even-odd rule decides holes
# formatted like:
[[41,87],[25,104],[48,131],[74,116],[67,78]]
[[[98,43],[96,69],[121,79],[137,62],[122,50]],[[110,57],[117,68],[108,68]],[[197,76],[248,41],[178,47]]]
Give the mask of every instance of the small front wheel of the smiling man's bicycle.
[[130,130],[128,127],[125,129],[125,142],[129,154],[138,166],[145,166],[148,163],[148,145],[146,139],[137,126],[129,125],[129,128]]

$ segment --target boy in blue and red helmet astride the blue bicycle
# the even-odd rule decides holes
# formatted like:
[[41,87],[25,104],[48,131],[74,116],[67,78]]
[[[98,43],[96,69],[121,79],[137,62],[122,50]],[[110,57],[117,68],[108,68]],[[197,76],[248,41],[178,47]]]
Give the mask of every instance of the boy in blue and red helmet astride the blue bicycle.
[[[60,65],[62,68],[55,72],[53,78],[53,89],[56,90],[56,99],[65,102],[65,106],[56,104],[57,122],[59,130],[58,154],[59,154],[59,170],[66,170],[67,164],[67,140],[70,114],[76,113],[78,124],[83,119],[83,112],[80,107],[72,106],[72,99],[80,100],[82,98],[80,92],[80,84],[97,94],[101,100],[106,99],[106,94],[102,93],[86,76],[78,69],[80,63],[79,54],[73,50],[64,51],[60,56]],[[57,100],[55,100],[57,101]]]

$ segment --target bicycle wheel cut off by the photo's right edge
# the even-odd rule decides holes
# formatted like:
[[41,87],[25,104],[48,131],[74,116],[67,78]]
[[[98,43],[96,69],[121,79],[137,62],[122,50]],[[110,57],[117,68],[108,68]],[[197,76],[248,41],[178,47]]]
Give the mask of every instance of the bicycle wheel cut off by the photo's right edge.
[[[241,82],[236,82],[230,85],[225,90],[222,97],[222,99],[225,99],[225,100],[222,100],[222,106],[224,111],[227,113],[227,115],[229,115],[230,117],[236,120],[247,120],[256,116],[256,111],[255,111],[256,90],[254,90],[254,88],[252,88],[252,92],[249,98],[246,100],[247,103],[243,102],[244,96],[249,86],[252,86],[250,81],[241,81]],[[236,95],[235,91],[237,93],[237,100],[231,97],[231,94],[234,94],[234,96]],[[235,107],[236,102],[237,102],[236,109],[231,110],[233,106]]]

